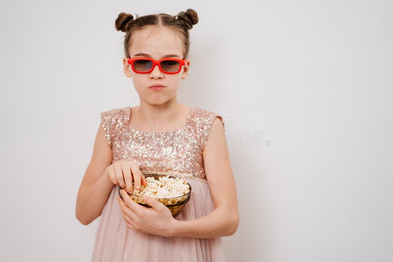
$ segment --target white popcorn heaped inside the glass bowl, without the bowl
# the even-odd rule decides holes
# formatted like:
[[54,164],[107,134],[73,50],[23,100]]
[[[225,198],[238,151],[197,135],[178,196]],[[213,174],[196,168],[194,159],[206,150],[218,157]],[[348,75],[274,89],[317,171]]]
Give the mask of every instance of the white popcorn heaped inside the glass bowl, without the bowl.
[[[147,185],[140,185],[140,189],[135,189],[133,186],[133,194],[143,197],[148,195],[154,198],[173,198],[186,195],[190,192],[190,187],[186,180],[181,178],[159,177],[155,180],[154,177],[146,178]],[[133,183],[134,185],[134,183]]]

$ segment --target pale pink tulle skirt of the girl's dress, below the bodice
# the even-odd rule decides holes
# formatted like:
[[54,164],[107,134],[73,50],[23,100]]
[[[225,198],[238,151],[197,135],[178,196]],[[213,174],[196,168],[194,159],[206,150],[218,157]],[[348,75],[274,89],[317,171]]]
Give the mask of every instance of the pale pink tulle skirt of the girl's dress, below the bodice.
[[[192,220],[214,210],[209,185],[187,178],[191,197],[175,218]],[[126,226],[113,186],[98,225],[92,262],[225,262],[222,237],[158,236]]]

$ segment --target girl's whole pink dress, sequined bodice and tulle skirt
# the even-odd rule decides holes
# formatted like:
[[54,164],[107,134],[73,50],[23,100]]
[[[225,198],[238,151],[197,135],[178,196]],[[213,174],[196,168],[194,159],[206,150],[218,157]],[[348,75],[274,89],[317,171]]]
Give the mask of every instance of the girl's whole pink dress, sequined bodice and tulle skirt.
[[[135,160],[140,170],[192,173],[190,201],[175,218],[191,220],[207,215],[214,204],[204,171],[202,151],[215,117],[221,115],[192,107],[186,126],[162,133],[128,128],[131,107],[100,114],[112,148],[112,162]],[[102,211],[92,262],[225,262],[222,237],[158,236],[130,229],[122,217],[117,185]]]

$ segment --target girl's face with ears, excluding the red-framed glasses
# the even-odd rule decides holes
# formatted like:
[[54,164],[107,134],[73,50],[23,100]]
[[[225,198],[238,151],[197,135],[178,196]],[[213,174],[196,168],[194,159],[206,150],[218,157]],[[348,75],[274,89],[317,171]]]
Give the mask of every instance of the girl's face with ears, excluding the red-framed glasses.
[[[183,49],[180,36],[174,30],[167,27],[148,26],[143,30],[134,32],[131,36],[129,47],[131,58],[150,57],[155,60],[172,54],[170,58],[183,59]],[[123,58],[124,74],[133,79],[133,84],[140,99],[152,105],[161,105],[176,97],[181,79],[186,79],[190,67],[190,61],[177,74],[165,74],[156,65],[152,72],[147,74],[135,73],[127,58]],[[151,85],[162,84],[162,90],[154,90]]]

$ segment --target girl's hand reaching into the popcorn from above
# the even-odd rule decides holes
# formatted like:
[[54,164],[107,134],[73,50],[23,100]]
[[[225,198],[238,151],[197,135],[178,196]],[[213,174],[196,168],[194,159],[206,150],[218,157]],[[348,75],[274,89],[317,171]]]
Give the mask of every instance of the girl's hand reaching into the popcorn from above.
[[140,189],[140,184],[147,185],[147,181],[139,170],[139,164],[136,161],[121,159],[114,161],[105,170],[105,175],[109,176],[111,182],[120,185],[128,192],[133,192],[132,181],[134,180],[135,189]]

